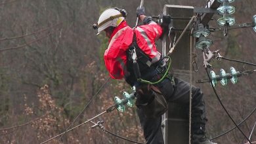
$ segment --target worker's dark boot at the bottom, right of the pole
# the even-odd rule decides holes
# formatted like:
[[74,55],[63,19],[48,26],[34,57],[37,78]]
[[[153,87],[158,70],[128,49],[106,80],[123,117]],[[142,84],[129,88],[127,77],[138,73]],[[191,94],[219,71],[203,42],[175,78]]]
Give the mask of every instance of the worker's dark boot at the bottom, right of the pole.
[[211,142],[207,137],[205,137],[205,132],[199,130],[198,132],[192,133],[192,144],[217,144]]

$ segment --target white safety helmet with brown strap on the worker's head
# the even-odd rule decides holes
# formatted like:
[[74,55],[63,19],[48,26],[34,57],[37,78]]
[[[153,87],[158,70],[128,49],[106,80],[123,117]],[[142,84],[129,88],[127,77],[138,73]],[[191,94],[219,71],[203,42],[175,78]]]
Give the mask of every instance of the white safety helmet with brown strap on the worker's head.
[[123,17],[123,14],[121,14],[121,12],[119,12],[119,10],[116,10],[113,8],[104,10],[104,12],[102,12],[102,14],[100,14],[100,18],[98,18],[98,23],[97,23],[98,33],[97,33],[97,35],[101,31],[106,29],[107,27],[119,26],[119,24],[121,24],[121,22],[124,19],[125,18]]

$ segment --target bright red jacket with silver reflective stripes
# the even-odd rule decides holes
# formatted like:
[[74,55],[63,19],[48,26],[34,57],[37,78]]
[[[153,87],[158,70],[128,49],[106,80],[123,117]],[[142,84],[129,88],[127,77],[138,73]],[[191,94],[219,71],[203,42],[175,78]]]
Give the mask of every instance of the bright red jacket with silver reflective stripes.
[[[133,29],[123,21],[114,29],[110,37],[108,49],[104,53],[104,61],[112,79],[122,79],[127,74],[126,50],[133,42],[133,33]],[[152,58],[152,63],[158,62],[161,54],[156,49],[155,41],[161,36],[161,27],[151,22],[148,25],[137,27],[135,33],[138,46]]]

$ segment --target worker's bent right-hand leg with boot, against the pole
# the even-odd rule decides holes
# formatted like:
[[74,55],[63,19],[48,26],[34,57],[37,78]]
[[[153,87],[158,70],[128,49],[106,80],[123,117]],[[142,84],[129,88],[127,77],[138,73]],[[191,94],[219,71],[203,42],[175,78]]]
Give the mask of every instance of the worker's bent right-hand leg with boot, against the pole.
[[[171,81],[169,81],[170,83]],[[171,84],[167,82],[159,86],[161,91],[167,93],[168,101],[175,103],[181,103],[188,105],[187,112],[189,110],[189,91],[190,84],[188,82],[182,81],[181,79],[175,78],[175,92],[168,92],[168,87],[171,87]],[[192,86],[192,144],[214,144],[209,139],[205,137],[205,122],[207,118],[205,115],[205,103],[203,100],[203,93],[200,88]]]

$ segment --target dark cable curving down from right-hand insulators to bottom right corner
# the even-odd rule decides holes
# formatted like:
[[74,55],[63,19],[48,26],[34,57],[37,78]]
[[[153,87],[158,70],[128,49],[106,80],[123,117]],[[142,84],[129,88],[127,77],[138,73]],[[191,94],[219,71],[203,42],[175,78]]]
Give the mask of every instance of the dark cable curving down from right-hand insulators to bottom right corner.
[[251,144],[251,141],[248,139],[248,137],[244,134],[244,132],[242,132],[242,130],[239,128],[239,126],[236,124],[236,122],[234,121],[234,119],[230,116],[230,114],[228,113],[228,111],[226,110],[226,107],[224,107],[221,98],[219,98],[219,95],[217,94],[214,86],[213,86],[213,82],[211,81],[211,77],[209,76],[209,73],[207,71],[207,69],[205,69],[207,76],[209,78],[209,81],[211,82],[211,88],[213,88],[213,91],[215,93],[215,96],[217,97],[217,99],[219,100],[219,103],[221,103],[221,106],[223,107],[224,111],[226,112],[226,114],[228,115],[228,117],[230,118],[230,120],[232,120],[232,122],[236,125],[236,128],[238,128],[238,130],[242,133],[242,135],[244,135],[244,137],[247,139],[247,141]]

